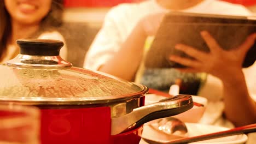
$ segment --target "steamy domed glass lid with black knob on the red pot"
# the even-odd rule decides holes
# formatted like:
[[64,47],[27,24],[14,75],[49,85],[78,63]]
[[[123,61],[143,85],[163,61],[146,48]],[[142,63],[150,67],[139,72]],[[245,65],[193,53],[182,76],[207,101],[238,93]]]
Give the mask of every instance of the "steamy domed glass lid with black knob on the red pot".
[[109,103],[148,88],[98,71],[72,67],[59,56],[59,40],[20,39],[21,52],[0,64],[0,100],[37,104]]

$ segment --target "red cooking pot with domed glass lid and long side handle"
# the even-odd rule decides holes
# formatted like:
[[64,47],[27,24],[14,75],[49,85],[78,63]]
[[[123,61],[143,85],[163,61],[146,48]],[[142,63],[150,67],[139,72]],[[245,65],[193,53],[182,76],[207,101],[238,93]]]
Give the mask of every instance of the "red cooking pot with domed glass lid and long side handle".
[[143,123],[193,107],[190,95],[143,106],[146,86],[72,67],[62,41],[17,43],[21,53],[0,65],[0,101],[39,107],[43,144],[139,143]]

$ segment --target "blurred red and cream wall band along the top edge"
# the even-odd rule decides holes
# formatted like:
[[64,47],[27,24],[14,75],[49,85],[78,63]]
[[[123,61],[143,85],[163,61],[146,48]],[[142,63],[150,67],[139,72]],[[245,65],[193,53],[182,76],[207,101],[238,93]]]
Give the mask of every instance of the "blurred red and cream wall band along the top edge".
[[[102,22],[104,14],[109,8],[120,3],[134,3],[143,0],[65,0],[66,14],[68,21]],[[255,0],[223,0],[230,3],[245,5],[256,13]],[[100,23],[97,23],[100,24]]]

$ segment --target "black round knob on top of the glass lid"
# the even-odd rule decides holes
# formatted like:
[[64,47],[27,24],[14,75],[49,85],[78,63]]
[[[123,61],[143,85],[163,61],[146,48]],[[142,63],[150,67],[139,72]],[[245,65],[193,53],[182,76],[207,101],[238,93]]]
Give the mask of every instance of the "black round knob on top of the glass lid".
[[33,56],[59,56],[64,45],[60,40],[51,39],[18,39],[16,43],[22,55]]

